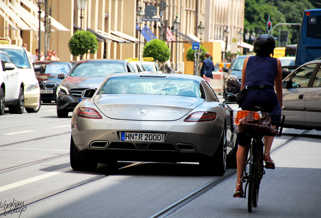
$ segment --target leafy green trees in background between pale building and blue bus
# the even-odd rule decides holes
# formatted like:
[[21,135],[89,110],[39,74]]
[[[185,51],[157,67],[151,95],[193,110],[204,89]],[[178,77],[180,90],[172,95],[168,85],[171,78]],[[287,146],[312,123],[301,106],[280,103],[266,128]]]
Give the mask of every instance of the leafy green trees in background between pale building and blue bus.
[[[267,33],[266,22],[269,20],[269,14],[272,28],[278,23],[301,23],[303,11],[315,7],[320,8],[317,5],[318,2],[318,0],[246,0],[244,33],[247,30],[251,32],[253,29],[256,34]],[[273,36],[278,37],[279,30],[288,30],[288,44],[295,44],[297,43],[299,29],[299,25],[279,25],[273,30]]]

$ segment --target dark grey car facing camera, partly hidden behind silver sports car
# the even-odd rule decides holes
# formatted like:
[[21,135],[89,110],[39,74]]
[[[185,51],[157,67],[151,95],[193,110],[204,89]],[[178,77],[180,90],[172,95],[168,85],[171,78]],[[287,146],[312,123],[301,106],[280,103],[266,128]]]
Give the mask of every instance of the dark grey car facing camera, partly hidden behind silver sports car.
[[81,92],[88,88],[98,88],[111,74],[134,72],[128,61],[90,59],[77,62],[57,88],[57,116],[67,118],[81,101]]

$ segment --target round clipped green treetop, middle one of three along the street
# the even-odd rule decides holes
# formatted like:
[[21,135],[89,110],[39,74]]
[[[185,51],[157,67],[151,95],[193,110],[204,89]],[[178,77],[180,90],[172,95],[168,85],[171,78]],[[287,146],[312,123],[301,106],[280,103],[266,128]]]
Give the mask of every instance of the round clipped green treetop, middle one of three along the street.
[[143,57],[152,57],[155,61],[164,63],[171,58],[171,51],[165,41],[152,39],[145,44]]

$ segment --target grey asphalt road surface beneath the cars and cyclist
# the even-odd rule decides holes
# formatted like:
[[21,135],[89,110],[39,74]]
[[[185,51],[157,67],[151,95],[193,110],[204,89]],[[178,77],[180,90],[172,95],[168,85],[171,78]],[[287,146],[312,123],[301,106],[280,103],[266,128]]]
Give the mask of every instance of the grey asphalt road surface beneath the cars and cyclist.
[[[284,129],[275,138],[276,169],[266,170],[252,213],[247,199],[233,198],[232,174],[157,217],[321,217],[321,132],[312,130],[293,139],[301,132]],[[276,149],[281,143],[286,144]],[[156,217],[219,178],[203,175],[194,163],[119,162],[119,170],[99,165],[95,172],[77,172],[70,167],[69,146],[70,118],[57,118],[55,105],[42,105],[36,114],[0,116],[1,217]],[[226,174],[233,171],[227,169]],[[25,206],[1,213],[18,202]]]

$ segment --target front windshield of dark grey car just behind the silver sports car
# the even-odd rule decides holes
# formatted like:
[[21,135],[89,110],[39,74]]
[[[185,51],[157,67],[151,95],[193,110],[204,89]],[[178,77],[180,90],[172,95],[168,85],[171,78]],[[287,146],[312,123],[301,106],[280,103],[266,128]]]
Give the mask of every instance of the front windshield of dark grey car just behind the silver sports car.
[[108,77],[114,73],[124,73],[122,63],[84,62],[73,68],[70,76],[74,77]]

